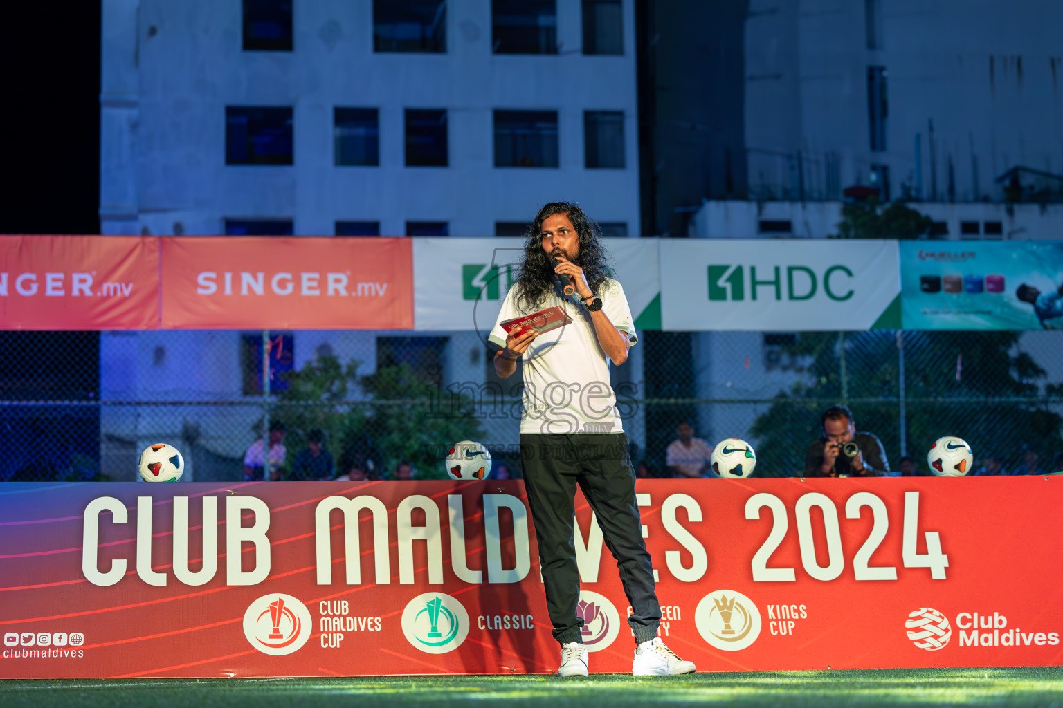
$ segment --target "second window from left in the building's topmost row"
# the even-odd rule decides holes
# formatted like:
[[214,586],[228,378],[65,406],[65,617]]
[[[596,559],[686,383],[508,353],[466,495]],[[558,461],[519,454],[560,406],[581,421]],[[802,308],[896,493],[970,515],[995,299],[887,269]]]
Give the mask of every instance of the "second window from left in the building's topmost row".
[[446,0],[373,0],[373,51],[445,52]]

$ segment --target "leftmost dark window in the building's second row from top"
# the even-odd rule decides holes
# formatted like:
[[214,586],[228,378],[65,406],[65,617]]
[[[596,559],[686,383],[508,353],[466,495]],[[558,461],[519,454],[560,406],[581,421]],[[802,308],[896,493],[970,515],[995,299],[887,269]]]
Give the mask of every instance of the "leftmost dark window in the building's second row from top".
[[291,108],[225,106],[225,165],[291,165]]

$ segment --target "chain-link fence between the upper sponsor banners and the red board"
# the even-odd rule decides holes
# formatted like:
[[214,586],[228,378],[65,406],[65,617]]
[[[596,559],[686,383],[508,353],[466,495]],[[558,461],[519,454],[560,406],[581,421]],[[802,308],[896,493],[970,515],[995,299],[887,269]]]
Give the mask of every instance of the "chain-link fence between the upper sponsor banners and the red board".
[[[670,476],[665,448],[684,420],[709,445],[749,441],[758,477],[799,476],[834,403],[882,441],[894,470],[904,455],[925,469],[942,435],[966,439],[976,467],[995,456],[1012,470],[1035,452],[1052,471],[1063,450],[1063,332],[640,335],[611,383],[632,462],[653,477]],[[520,377],[499,380],[474,332],[0,332],[0,342],[12,352],[0,373],[2,481],[134,480],[139,451],[159,442],[182,451],[186,479],[237,481],[264,428],[284,446],[282,479],[394,479],[403,462],[441,479],[460,439],[489,446],[494,474],[520,474]]]

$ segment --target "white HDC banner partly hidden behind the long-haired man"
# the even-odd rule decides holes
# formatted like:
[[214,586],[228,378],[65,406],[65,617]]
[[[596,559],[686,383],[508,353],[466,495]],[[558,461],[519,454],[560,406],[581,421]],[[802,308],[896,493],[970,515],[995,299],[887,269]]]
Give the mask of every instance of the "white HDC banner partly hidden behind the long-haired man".
[[[656,239],[605,239],[635,326],[660,329]],[[414,239],[414,329],[489,332],[524,258],[521,238]]]

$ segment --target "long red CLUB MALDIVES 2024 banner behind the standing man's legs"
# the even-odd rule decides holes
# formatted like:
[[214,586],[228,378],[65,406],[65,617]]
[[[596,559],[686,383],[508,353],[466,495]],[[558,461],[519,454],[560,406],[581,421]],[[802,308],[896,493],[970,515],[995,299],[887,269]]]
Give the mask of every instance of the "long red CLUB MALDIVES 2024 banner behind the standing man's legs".
[[[639,481],[699,671],[1063,660],[1063,478]],[[628,672],[583,498],[593,672]],[[0,677],[549,673],[522,483],[7,483]]]

